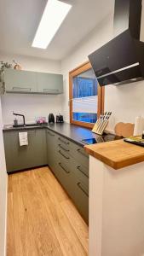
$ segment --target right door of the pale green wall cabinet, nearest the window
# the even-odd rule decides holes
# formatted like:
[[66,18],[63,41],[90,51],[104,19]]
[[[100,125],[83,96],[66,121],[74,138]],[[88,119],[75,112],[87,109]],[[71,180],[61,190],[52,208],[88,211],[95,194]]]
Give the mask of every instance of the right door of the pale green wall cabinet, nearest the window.
[[63,76],[55,73],[37,73],[37,90],[43,94],[63,92]]

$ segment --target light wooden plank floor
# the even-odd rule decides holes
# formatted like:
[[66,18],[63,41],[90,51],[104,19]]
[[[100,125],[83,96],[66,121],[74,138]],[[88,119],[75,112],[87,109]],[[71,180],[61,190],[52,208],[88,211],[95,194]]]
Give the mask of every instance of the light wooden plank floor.
[[9,175],[7,256],[88,255],[88,226],[48,167]]

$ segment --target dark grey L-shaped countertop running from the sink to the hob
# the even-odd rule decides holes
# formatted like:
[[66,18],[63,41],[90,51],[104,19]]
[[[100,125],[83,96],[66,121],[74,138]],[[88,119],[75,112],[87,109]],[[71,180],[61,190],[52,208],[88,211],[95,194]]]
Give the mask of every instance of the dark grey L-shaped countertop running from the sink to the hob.
[[3,128],[3,131],[26,131],[30,129],[49,129],[51,131],[55,131],[56,133],[60,134],[63,137],[66,137],[70,139],[72,142],[77,143],[80,146],[86,145],[82,142],[84,139],[89,139],[91,137],[94,137],[98,143],[101,142],[107,142],[112,141],[114,139],[118,139],[118,137],[115,137],[114,135],[105,135],[105,136],[99,136],[93,133],[88,128],[83,128],[78,125],[71,125],[67,123],[63,124],[52,124],[52,125],[32,125],[32,126],[26,126],[26,127],[9,127]]

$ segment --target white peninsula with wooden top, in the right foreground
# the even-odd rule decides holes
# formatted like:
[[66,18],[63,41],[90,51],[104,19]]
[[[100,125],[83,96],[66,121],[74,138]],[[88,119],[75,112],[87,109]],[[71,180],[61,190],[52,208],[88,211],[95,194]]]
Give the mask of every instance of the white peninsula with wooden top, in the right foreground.
[[144,148],[123,140],[89,156],[89,256],[144,255]]

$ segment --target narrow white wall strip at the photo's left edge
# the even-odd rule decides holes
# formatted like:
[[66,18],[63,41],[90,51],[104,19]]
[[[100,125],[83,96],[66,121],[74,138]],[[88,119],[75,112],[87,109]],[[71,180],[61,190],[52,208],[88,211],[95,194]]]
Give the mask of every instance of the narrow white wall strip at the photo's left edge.
[[2,111],[0,98],[0,255],[5,254],[6,244],[6,207],[7,207],[7,173],[3,150]]

